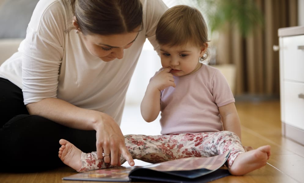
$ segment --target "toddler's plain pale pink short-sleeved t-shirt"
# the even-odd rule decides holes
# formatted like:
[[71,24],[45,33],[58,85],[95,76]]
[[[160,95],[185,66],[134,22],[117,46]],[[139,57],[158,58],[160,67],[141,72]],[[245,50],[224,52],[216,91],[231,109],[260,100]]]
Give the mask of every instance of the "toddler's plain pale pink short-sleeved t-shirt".
[[203,64],[195,73],[174,77],[176,87],[161,93],[161,134],[223,130],[218,107],[235,102],[224,75]]

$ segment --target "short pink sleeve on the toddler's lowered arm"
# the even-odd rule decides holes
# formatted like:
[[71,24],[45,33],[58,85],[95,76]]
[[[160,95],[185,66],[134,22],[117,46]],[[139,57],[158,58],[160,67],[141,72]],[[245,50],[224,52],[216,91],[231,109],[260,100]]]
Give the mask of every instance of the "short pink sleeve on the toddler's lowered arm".
[[212,95],[218,107],[235,102],[230,86],[220,70],[215,69],[211,84]]

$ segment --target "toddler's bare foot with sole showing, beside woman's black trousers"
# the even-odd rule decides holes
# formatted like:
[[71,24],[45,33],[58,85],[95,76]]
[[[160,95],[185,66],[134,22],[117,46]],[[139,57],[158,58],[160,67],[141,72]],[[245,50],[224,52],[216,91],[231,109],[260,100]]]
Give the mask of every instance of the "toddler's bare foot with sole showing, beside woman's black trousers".
[[79,170],[82,167],[81,150],[64,139],[60,139],[59,144],[61,144],[58,152],[60,160],[76,171]]

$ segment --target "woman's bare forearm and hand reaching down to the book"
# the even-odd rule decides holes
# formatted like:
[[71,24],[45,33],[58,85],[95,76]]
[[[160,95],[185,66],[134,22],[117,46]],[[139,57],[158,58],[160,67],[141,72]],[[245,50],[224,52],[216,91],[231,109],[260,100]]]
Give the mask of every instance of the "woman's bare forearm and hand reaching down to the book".
[[31,115],[39,115],[67,127],[95,130],[98,158],[103,158],[102,152],[111,154],[111,162],[105,162],[117,165],[120,163],[121,154],[131,166],[134,166],[132,156],[126,149],[123,134],[111,116],[95,110],[82,109],[56,98],[46,98],[27,104],[27,110]]

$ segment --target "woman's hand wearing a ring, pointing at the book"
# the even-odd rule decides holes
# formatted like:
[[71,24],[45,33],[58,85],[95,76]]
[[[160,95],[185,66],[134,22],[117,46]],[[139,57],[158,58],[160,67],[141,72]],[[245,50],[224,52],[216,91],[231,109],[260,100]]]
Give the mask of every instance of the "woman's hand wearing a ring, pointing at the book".
[[[124,136],[115,122],[108,114],[102,113],[101,120],[96,122],[96,149],[97,156],[104,159],[105,163],[112,166],[121,165],[120,156],[128,161],[130,166],[134,166],[134,160],[125,145]],[[104,153],[104,156],[103,154]]]

